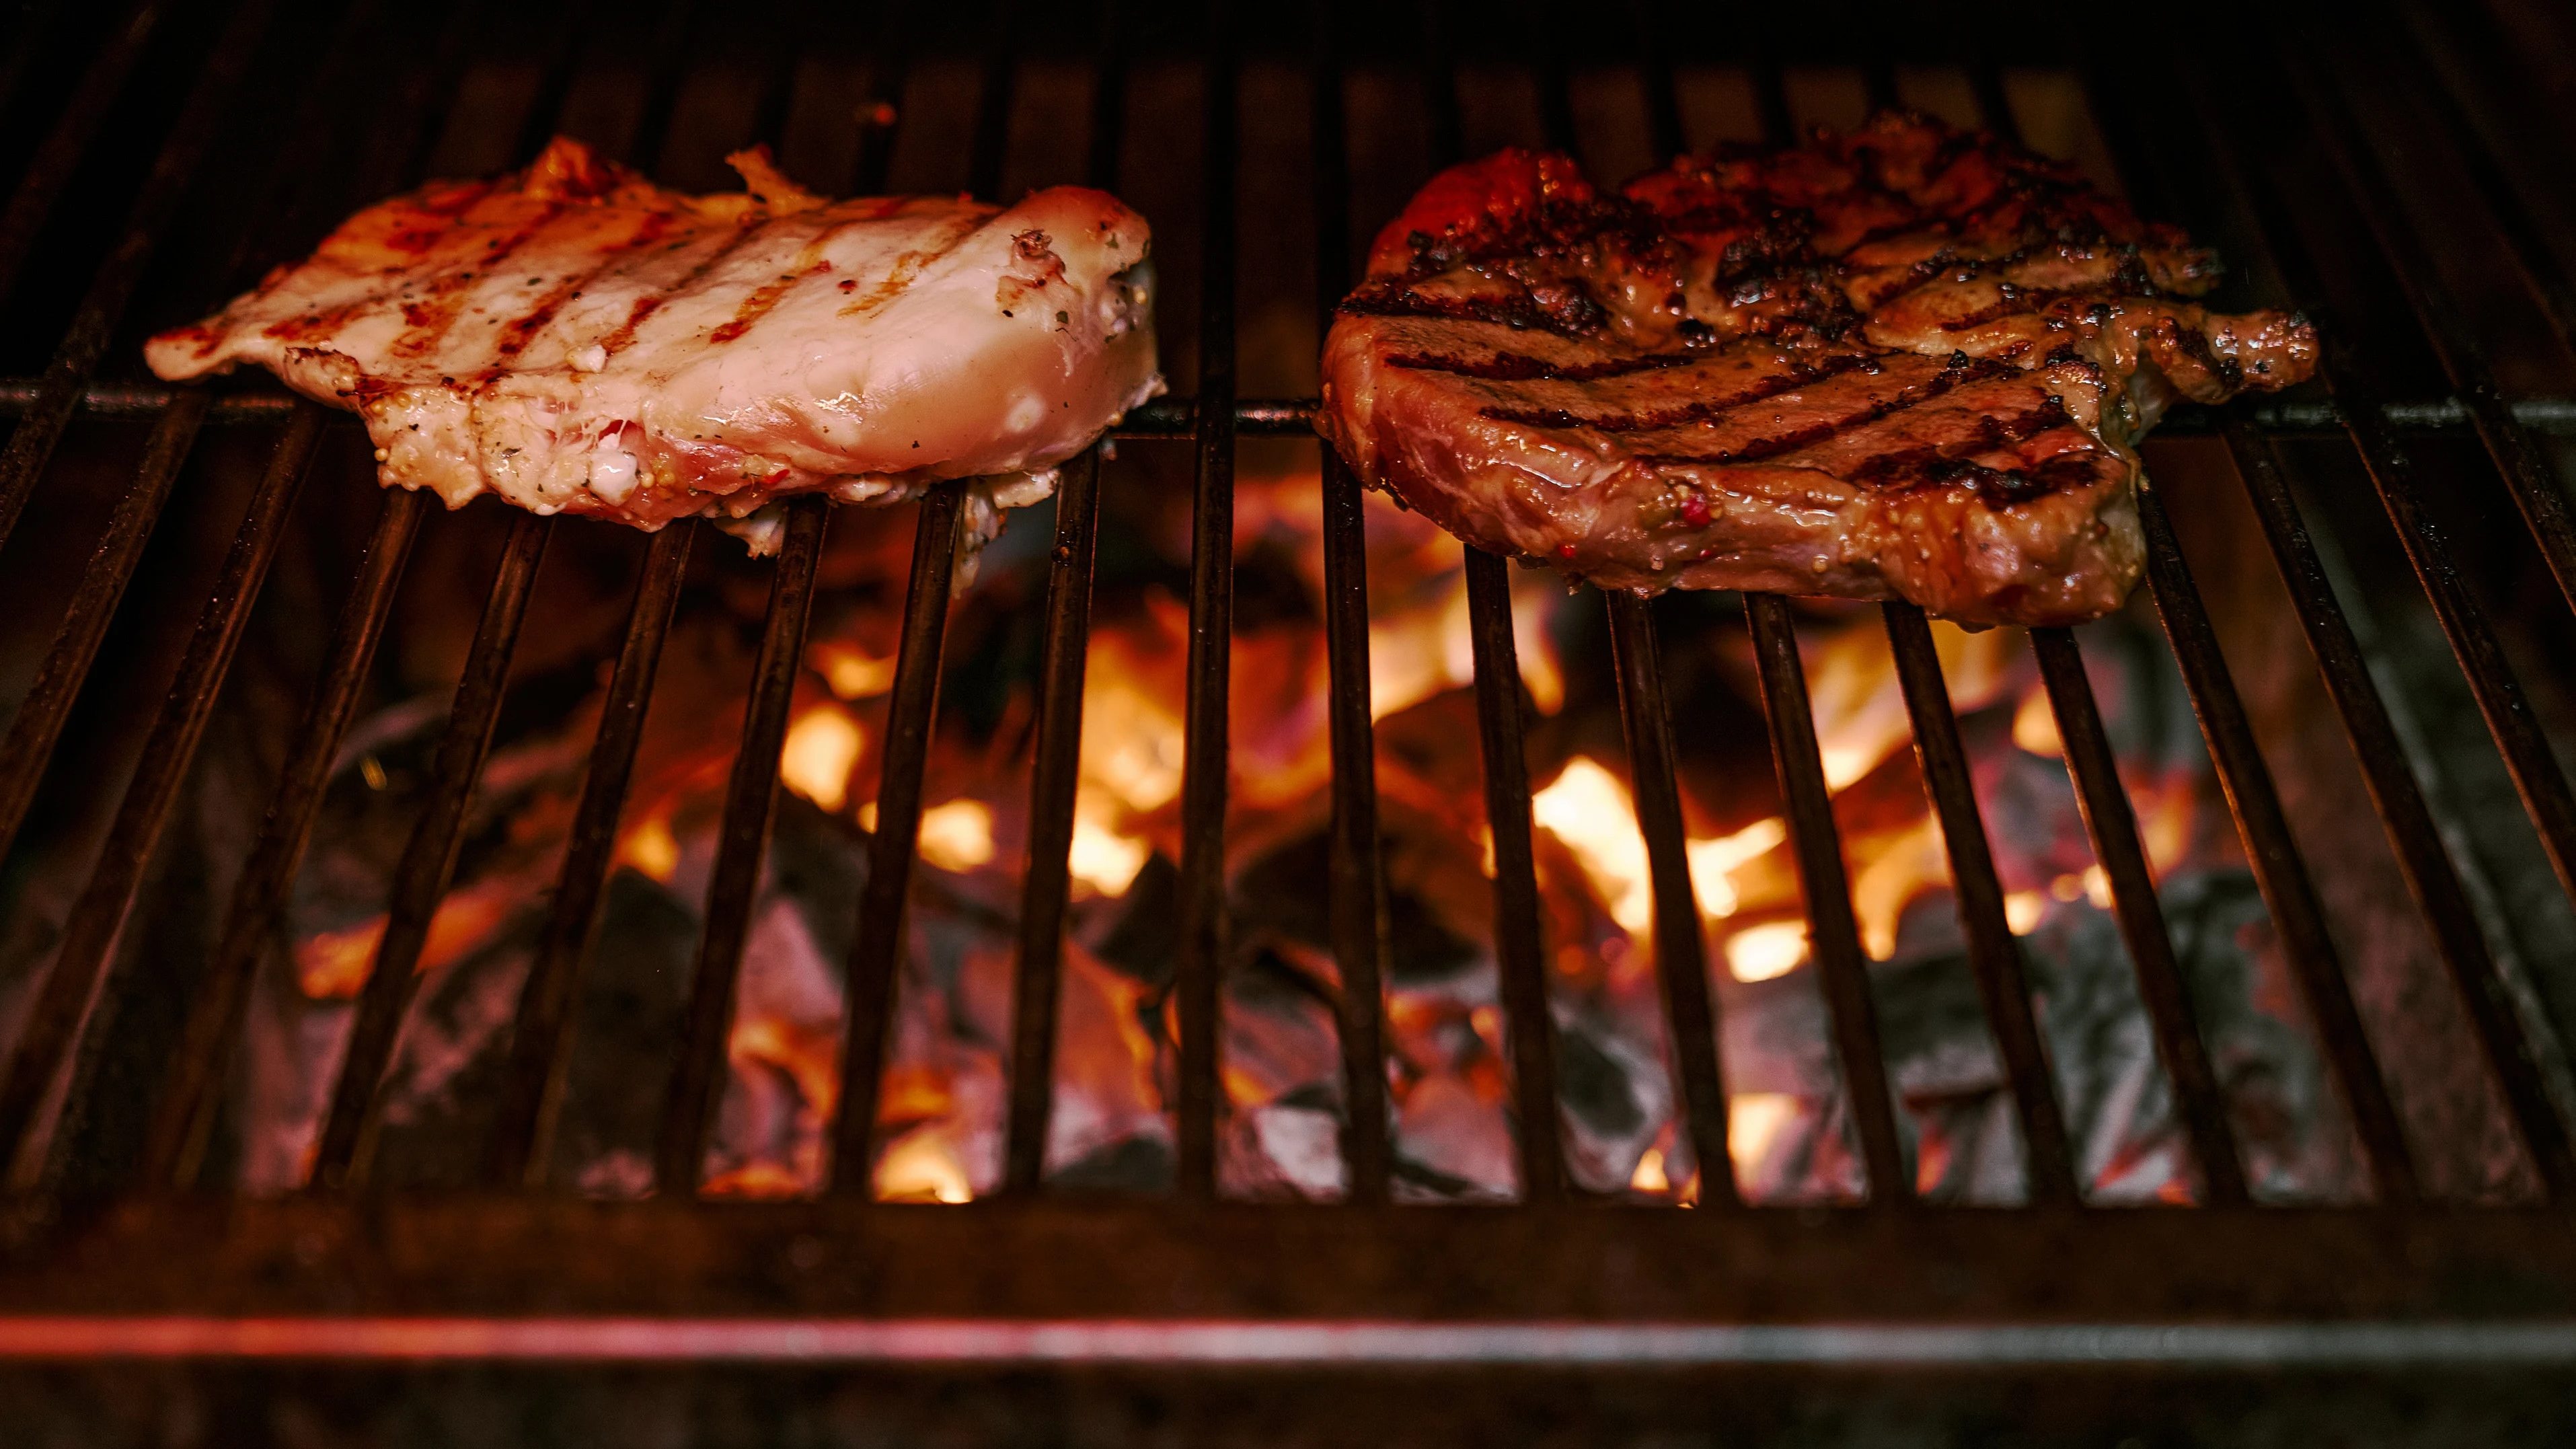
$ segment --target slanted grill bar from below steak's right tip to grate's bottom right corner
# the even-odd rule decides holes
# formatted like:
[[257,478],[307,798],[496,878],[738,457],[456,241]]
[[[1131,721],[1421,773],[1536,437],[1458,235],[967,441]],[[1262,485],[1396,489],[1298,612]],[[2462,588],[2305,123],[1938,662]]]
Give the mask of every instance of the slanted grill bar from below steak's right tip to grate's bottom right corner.
[[2576,1145],[2568,1142],[2568,1132],[2550,1106],[2548,1085],[2522,1031],[2514,998],[2486,949],[2486,936],[2478,931],[2468,892],[2460,884],[2450,851],[2442,846],[2432,807],[2424,804],[2424,786],[2406,763],[2406,748],[2388,719],[2388,704],[2370,681],[2370,665],[2362,663],[2352,621],[2344,619],[2342,606],[2334,601],[2326,570],[2316,557],[2316,544],[2308,541],[2308,529],[2290,500],[2290,485],[2282,480],[2272,449],[2257,441],[2254,433],[2231,428],[2228,449],[2236,454],[2236,474],[2244,480],[2254,516],[2272,544],[2280,578],[2298,603],[2298,621],[2308,632],[2316,668],[2326,676],[2326,691],[2334,696],[2336,714],[2344,717],[2352,753],[2362,766],[2362,779],[2370,784],[2370,802],[2388,825],[2388,846],[2396,851],[2416,908],[2424,910],[2424,920],[2442,951],[2442,964],[2450,967],[2452,982],[2460,987],[2460,1000],[2478,1029],[2478,1044],[2486,1052],[2496,1088],[2504,1093],[2506,1111],[2514,1116],[2522,1147],[2532,1155],[2532,1165],[2540,1171],[2540,1181],[2550,1196],[2571,1199],[2576,1196]]

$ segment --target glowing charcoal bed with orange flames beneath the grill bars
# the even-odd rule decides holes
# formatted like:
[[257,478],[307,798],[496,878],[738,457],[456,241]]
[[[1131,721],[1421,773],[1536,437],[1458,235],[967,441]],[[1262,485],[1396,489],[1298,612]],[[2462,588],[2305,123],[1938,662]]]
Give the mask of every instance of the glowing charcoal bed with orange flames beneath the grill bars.
[[[1314,487],[1311,472],[1247,472],[1239,485],[1218,1171],[1229,1194],[1247,1196],[1345,1191],[1340,972],[1329,941],[1329,673],[1316,624]],[[1512,1044],[1492,941],[1492,830],[1461,552],[1417,516],[1376,500],[1368,508],[1394,1191],[1502,1199],[1517,1191]],[[871,730],[881,706],[853,701],[878,699],[891,686],[894,663],[881,650],[896,634],[907,557],[863,529],[835,521],[835,539],[860,534],[860,541],[855,554],[837,559],[832,578],[858,580],[858,588],[817,614],[781,755],[788,797],[744,944],[729,1080],[706,1160],[703,1191],[719,1196],[804,1196],[819,1191],[827,1171],[824,1137],[840,1101],[842,954],[866,879],[860,830],[876,828]],[[1133,536],[1151,549],[1188,531],[1139,526]],[[1036,678],[1025,647],[997,642],[1025,639],[1015,629],[1033,598],[1030,562],[1043,552],[1023,549],[1018,565],[1010,557],[1005,541],[992,554],[997,572],[958,596],[951,621],[943,714],[925,773],[925,799],[938,804],[920,820],[909,938],[878,1083],[873,1186],[884,1199],[966,1201],[999,1178]],[[1046,1145],[1046,1171],[1064,1183],[1157,1189],[1172,1171],[1170,969],[1188,660],[1188,608],[1172,596],[1172,562],[1121,578],[1105,557],[1087,642],[1066,859],[1074,905]],[[1692,601],[1659,608],[1687,611]],[[1558,639],[1582,639],[1584,629],[1597,637],[1597,601],[1566,596],[1548,575],[1515,572],[1512,614],[1520,683],[1546,717],[1530,730],[1528,766],[1530,779],[1543,781],[1530,804],[1569,1171],[1587,1191],[1687,1204],[1703,1165],[1674,1116],[1654,975],[1654,890],[1618,750],[1618,691],[1600,650],[1558,657]],[[1731,1171],[1757,1201],[1834,1201],[1857,1191],[1860,1168],[1847,1140],[1852,1106],[1811,972],[1803,884],[1770,794],[1775,776],[1741,668],[1741,627],[1731,614],[1703,611],[1700,619],[1695,629],[1667,627],[1664,650],[1692,828],[1685,843],[1690,884],[1710,928],[1710,957],[1723,964],[1716,987],[1731,1088]],[[734,750],[734,727],[721,712],[747,670],[739,639],[739,616],[690,624],[683,611],[670,650],[667,668],[680,673],[665,678],[667,694],[639,761],[616,846],[621,871],[592,964],[595,980],[613,982],[598,990],[621,993],[629,1003],[621,1011],[641,1013],[641,1026],[613,1016],[605,1029],[603,1049],[636,1057],[611,1080],[649,1080],[649,1070],[662,1067],[685,998]],[[2087,1181],[2102,1199],[2166,1194],[2187,1158],[2172,1142],[2172,1109],[2117,931],[2099,913],[2105,877],[2084,846],[2066,771],[2050,758],[2056,732],[2043,735],[2050,719],[2027,647],[2012,629],[1965,634],[1950,627],[1935,627],[1935,645],[1989,810],[2007,920],[2030,941],[2032,975],[2045,993],[2050,1049],[2061,1070],[2081,1075],[2069,1085],[2069,1116]],[[1801,621],[1801,650],[1852,913],[1875,962],[1873,990],[1891,1024],[1935,1034],[1914,1042],[1891,1029],[1891,1080],[1919,1181],[1945,1201],[2012,1199],[2020,1186],[2009,1093],[1976,1011],[1947,897],[1947,851],[1914,768],[1886,634],[1875,611],[1819,614]],[[693,665],[698,655],[706,663]],[[2112,670],[2097,688],[2117,704]],[[672,706],[672,696],[683,704]],[[363,799],[417,789],[407,784],[420,771],[402,750],[404,730],[433,740],[440,706],[402,709],[410,724],[386,722],[366,750],[353,750],[386,781]],[[433,926],[422,969],[446,977],[425,985],[422,1013],[443,1016],[407,1026],[389,1111],[394,1129],[453,1116],[438,1106],[438,1093],[451,1080],[469,1080],[477,1052],[507,1039],[515,972],[546,915],[544,882],[554,879],[592,719],[577,714],[556,735],[505,740],[495,750],[484,784],[495,802],[479,810],[507,828],[479,828],[477,841],[502,846],[469,853]],[[2164,737],[2190,743],[2187,727]],[[2226,864],[2213,848],[2228,841],[2213,846],[2202,828],[2205,763],[2123,753],[2123,773],[2154,869],[2159,877],[2172,871],[2169,890],[2200,890],[2208,902],[2208,928],[2177,938],[2177,951],[2251,980],[2231,923],[2246,913],[2259,918],[2259,900],[2249,887],[2236,890],[2241,877],[2210,874],[2213,864]],[[319,859],[340,877],[381,882],[394,856],[381,841],[399,846],[404,825],[407,817],[350,825],[340,853],[325,833]],[[366,890],[379,895],[366,900]],[[345,1024],[337,1003],[363,985],[381,938],[381,887],[348,895],[355,908],[340,897],[330,897],[327,910],[299,908],[294,964],[307,1000],[296,1011],[307,1016],[265,998],[255,1016],[270,1047],[250,1073],[245,1111],[270,1127],[247,1134],[245,1181],[294,1186],[301,1176],[327,1085],[312,1062],[330,1062]],[[2251,998],[2251,985],[2244,995]],[[2249,1021],[2241,1011],[2213,1011],[2221,1044],[2233,1042],[2236,1055],[2226,1060],[2306,1080],[2295,1073],[2311,1067],[2282,1067],[2287,1057],[2262,1036],[2267,1026]],[[634,1042],[621,1042],[629,1031]],[[567,1127],[577,1147],[559,1168],[564,1181],[613,1196],[652,1191],[649,1122],[644,1132],[616,1127],[618,1104],[608,1101],[634,1088],[611,1088],[608,1098],[592,1088],[585,1098],[582,1080],[574,1073],[567,1122],[587,1111],[611,1124]]]

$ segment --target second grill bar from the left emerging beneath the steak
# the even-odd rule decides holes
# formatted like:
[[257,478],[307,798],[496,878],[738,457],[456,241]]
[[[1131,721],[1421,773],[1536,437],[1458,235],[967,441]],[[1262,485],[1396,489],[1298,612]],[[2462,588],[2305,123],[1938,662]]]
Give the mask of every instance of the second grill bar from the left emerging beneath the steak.
[[[1512,578],[1502,554],[1466,547],[1466,619],[1476,650],[1476,735],[1484,750],[1484,825],[1494,838],[1494,969],[1512,1039],[1512,1106],[1520,1127],[1520,1196],[1566,1194],[1556,1119],[1556,1016],[1538,918],[1538,859],[1530,851],[1530,755],[1522,748],[1520,650],[1512,642]],[[1703,1171],[1705,1178],[1705,1171]]]

